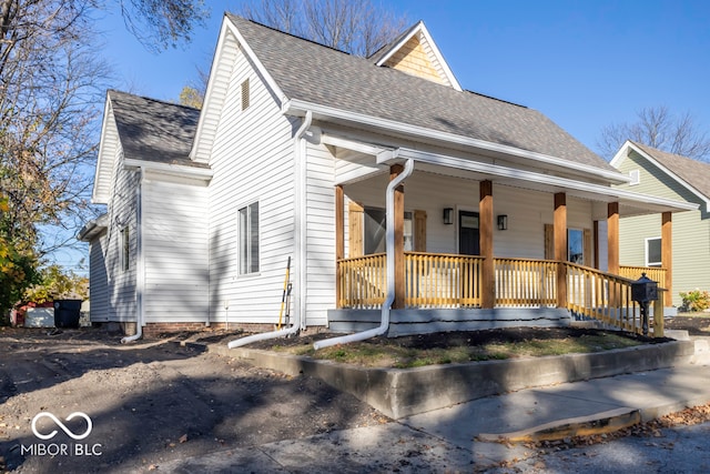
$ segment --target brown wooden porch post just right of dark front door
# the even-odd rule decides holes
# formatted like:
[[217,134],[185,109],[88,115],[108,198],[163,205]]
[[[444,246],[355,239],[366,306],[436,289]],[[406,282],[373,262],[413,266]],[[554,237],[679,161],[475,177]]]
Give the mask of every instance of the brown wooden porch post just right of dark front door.
[[484,258],[480,275],[480,305],[491,309],[496,303],[496,274],[493,261],[493,182],[481,181],[479,184],[479,246]]

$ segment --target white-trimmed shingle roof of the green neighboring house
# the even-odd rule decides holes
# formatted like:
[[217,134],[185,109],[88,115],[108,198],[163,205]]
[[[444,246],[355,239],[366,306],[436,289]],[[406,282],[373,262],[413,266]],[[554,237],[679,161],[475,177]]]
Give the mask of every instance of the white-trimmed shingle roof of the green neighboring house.
[[707,203],[710,211],[710,164],[679,154],[668,153],[652,147],[628,140],[611,160],[611,165],[620,167],[635,151],[646,161],[661,170],[672,180],[688,189]]

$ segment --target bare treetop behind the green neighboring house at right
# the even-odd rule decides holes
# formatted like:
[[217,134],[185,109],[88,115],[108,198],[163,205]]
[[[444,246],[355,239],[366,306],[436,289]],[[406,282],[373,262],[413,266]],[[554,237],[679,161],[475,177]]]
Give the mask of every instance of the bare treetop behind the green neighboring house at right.
[[669,153],[697,160],[710,159],[710,138],[686,112],[672,114],[667,107],[645,108],[637,122],[607,125],[597,140],[599,153],[611,159],[625,141],[632,140]]

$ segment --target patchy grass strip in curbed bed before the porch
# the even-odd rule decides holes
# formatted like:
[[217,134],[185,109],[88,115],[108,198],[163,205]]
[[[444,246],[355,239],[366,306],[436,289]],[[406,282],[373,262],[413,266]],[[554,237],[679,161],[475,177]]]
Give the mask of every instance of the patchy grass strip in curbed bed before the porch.
[[515,343],[486,345],[455,345],[449,347],[413,349],[397,344],[396,339],[385,343],[355,342],[315,351],[312,345],[272,347],[274,351],[305,355],[366,367],[412,369],[436,364],[471,361],[491,361],[516,357],[540,357],[571,353],[591,353],[612,349],[632,347],[639,341],[616,334],[582,335],[554,340],[528,340]]

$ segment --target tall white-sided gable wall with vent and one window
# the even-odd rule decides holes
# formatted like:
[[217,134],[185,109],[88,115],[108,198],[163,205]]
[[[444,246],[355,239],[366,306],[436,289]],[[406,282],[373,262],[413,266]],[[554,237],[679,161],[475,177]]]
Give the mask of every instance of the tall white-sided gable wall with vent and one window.
[[[248,78],[251,103],[241,110]],[[210,158],[210,312],[235,323],[276,323],[288,256],[294,258],[294,140],[280,104],[240,51]],[[237,211],[258,202],[260,271],[239,274]],[[294,262],[295,263],[295,262]],[[297,268],[291,269],[294,280]],[[295,305],[292,305],[293,310]],[[293,311],[292,311],[293,314]]]

